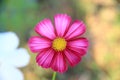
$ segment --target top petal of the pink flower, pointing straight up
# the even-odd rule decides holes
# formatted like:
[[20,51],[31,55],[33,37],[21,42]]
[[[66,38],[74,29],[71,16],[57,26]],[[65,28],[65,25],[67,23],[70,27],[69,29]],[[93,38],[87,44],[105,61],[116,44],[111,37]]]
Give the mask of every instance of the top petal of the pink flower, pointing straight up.
[[69,27],[71,17],[66,14],[57,14],[54,18],[57,36],[62,37]]

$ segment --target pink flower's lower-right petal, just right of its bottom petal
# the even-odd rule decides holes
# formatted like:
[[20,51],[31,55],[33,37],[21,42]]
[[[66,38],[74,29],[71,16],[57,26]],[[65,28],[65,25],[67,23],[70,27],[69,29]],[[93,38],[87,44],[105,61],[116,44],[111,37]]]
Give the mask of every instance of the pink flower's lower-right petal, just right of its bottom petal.
[[65,50],[64,54],[71,66],[75,66],[81,61],[81,56],[77,55],[74,51]]

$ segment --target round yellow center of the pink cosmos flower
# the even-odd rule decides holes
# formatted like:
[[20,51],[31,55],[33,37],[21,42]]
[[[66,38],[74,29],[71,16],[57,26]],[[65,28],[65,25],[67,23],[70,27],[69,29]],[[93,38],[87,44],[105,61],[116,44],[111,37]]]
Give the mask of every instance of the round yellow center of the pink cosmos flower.
[[53,40],[52,48],[56,51],[63,51],[66,48],[66,40],[64,38],[56,38]]

